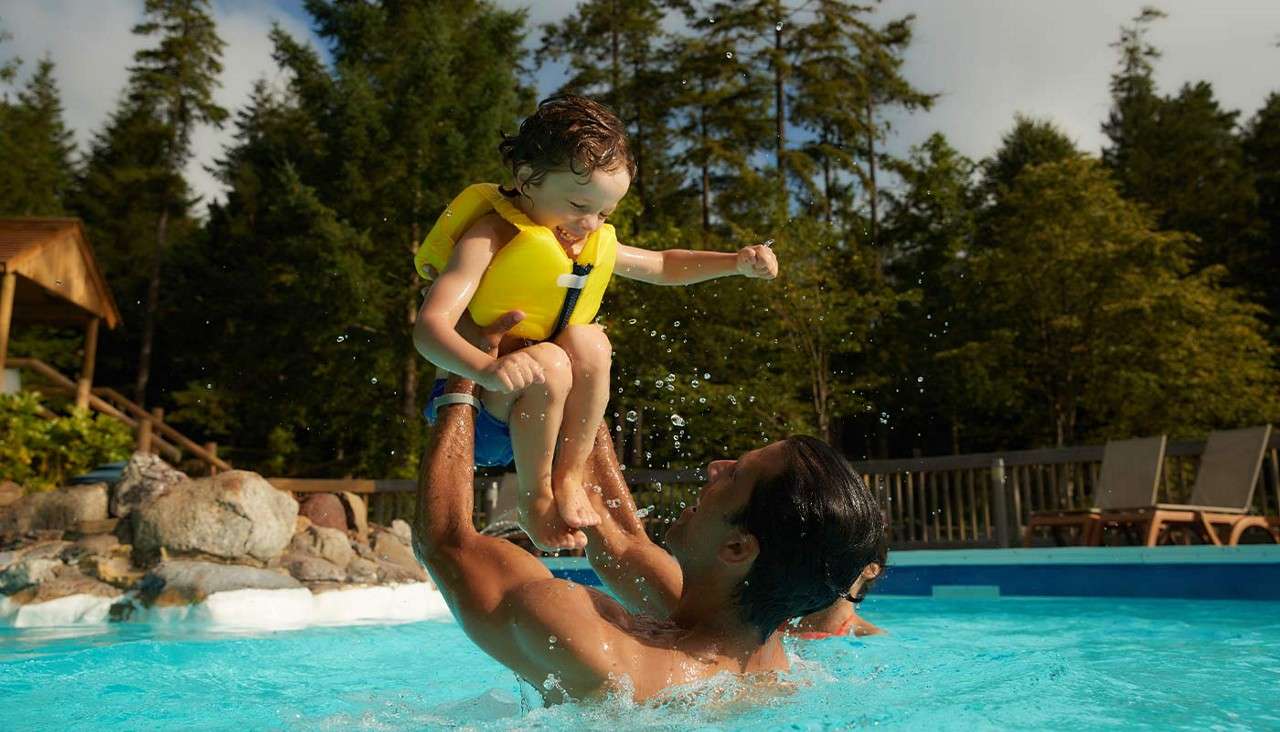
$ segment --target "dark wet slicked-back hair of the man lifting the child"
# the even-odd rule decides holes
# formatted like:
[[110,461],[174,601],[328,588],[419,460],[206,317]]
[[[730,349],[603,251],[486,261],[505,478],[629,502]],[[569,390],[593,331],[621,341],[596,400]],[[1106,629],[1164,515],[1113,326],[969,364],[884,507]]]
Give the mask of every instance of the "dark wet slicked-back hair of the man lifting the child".
[[783,622],[845,596],[884,536],[876,497],[831,445],[783,443],[783,468],[751,488],[730,521],[755,536],[759,555],[737,587],[739,613],[769,637]]

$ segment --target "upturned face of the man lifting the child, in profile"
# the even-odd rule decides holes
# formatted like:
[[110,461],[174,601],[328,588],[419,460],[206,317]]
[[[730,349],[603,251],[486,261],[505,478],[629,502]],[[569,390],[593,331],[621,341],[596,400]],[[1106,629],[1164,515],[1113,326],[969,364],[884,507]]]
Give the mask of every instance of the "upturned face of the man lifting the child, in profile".
[[782,443],[751,450],[737,459],[713,461],[707,466],[707,485],[698,502],[676,518],[667,530],[667,546],[686,572],[710,567],[722,545],[741,527],[730,518],[751,499],[760,480],[777,476],[783,468]]

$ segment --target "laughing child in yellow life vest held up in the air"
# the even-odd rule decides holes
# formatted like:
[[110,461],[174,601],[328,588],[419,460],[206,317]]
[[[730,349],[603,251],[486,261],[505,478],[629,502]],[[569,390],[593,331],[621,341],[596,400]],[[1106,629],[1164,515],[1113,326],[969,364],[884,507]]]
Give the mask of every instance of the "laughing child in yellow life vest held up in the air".
[[[479,465],[515,459],[520,523],[534,544],[581,548],[581,529],[600,521],[582,471],[609,401],[612,347],[593,320],[612,274],[682,285],[773,279],[778,262],[763,244],[737,252],[620,244],[605,219],[636,164],[622,122],[595,101],[550,97],[498,148],[515,186],[468,187],[415,256],[419,273],[434,279],[413,326],[419,352],[440,369],[426,416],[435,418],[445,372],[479,384]],[[525,319],[497,357],[457,330],[463,314],[488,325],[516,310]]]

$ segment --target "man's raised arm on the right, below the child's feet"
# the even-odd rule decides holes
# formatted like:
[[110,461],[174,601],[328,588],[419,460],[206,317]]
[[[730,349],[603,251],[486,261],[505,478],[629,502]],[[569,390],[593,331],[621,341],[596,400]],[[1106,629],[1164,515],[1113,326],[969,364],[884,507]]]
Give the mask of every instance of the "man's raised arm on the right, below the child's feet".
[[618,468],[609,430],[600,425],[595,447],[586,461],[591,508],[600,523],[585,529],[586,555],[595,573],[627,608],[664,618],[680,601],[684,573],[676,558],[654,544],[636,517],[636,503]]

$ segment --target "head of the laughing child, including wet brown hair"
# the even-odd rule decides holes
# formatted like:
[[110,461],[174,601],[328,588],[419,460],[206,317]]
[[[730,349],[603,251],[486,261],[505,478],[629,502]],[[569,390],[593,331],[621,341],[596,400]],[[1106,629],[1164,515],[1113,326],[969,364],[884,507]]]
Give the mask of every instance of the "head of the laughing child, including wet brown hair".
[[622,120],[581,96],[544,100],[498,150],[516,180],[511,195],[564,246],[600,228],[636,174]]

